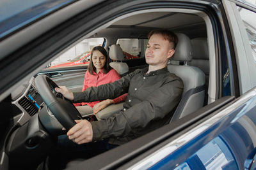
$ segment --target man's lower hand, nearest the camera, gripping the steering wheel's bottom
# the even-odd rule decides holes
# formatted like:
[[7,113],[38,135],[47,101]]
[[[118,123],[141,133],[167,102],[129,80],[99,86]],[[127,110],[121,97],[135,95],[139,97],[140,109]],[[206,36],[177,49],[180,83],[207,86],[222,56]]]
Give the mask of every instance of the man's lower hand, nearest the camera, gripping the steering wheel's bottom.
[[92,141],[92,125],[87,120],[75,120],[74,125],[68,132],[68,139],[77,144],[88,143]]

